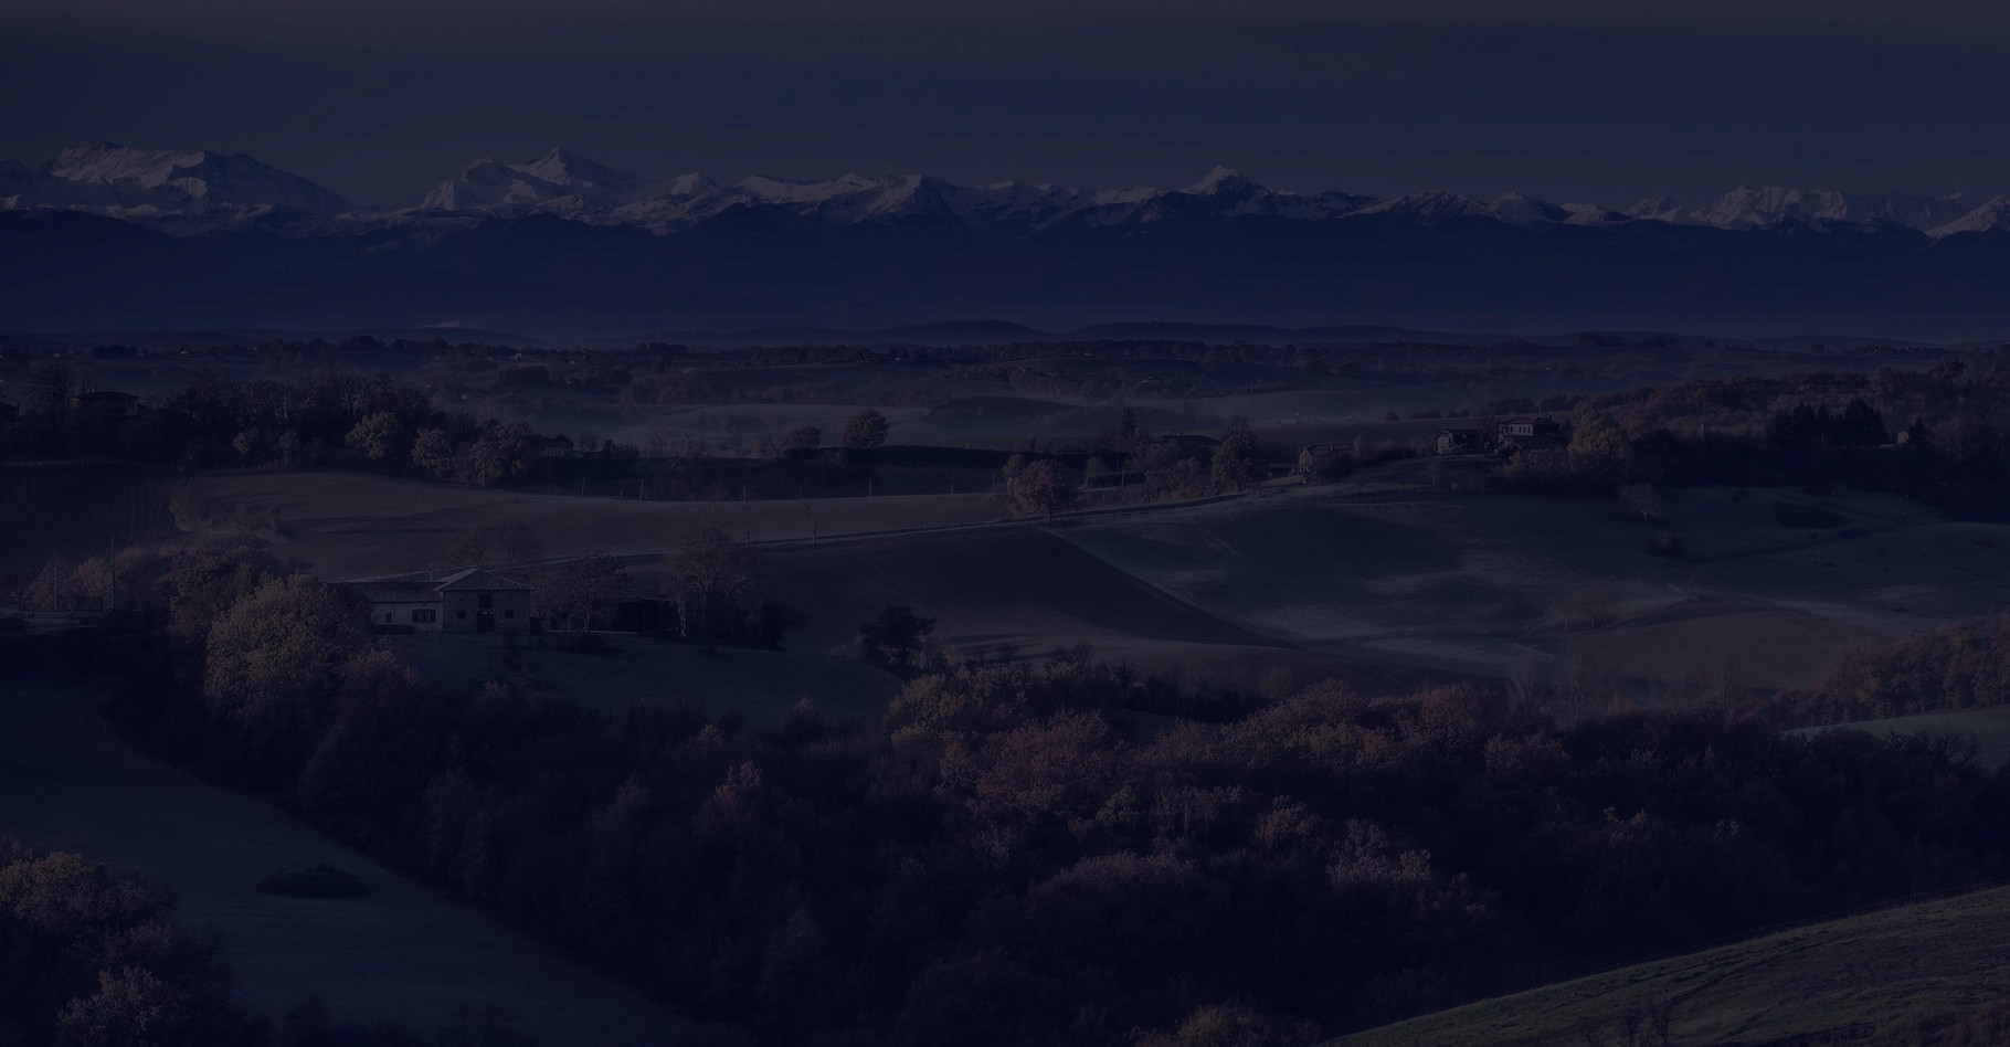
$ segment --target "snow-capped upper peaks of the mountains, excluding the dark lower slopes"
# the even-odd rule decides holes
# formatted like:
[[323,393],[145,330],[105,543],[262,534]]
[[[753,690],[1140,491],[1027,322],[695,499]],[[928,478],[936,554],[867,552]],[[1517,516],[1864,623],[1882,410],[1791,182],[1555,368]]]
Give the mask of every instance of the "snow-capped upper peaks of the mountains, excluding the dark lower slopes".
[[[1383,215],[1401,221],[1493,219],[1507,225],[1618,225],[1660,221],[1711,229],[1773,229],[1795,223],[1903,227],[1930,237],[2006,227],[2010,197],[1863,195],[1785,187],[1737,187],[1715,201],[1682,205],[1650,197],[1626,209],[1552,203],[1522,193],[1477,201],[1445,191],[1377,199],[1357,193],[1286,193],[1228,167],[1184,189],[1065,189],[1001,181],[953,185],[931,175],[842,175],[794,181],[748,175],[732,185],[699,173],[649,179],[615,171],[565,149],[505,163],[470,161],[424,193],[410,209],[360,209],[306,177],[251,157],[203,151],[129,149],[113,143],[64,149],[40,167],[0,161],[0,207],[64,207],[127,217],[211,217],[241,223],[243,211],[295,211],[350,217],[358,225],[388,219],[521,217],[551,213],[591,225],[629,225],[675,233],[742,207],[820,225],[941,221],[987,235],[1033,235],[1055,225],[1144,225],[1180,219],[1272,217],[1333,221]],[[189,229],[187,223],[175,231]]]

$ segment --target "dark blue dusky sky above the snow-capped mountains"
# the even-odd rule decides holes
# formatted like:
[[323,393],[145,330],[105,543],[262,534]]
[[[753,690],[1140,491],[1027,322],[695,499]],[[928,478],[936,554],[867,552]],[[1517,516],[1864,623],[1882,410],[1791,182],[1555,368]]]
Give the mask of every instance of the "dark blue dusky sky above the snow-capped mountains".
[[1624,207],[2010,193],[2000,0],[12,0],[0,157],[249,153],[414,203],[474,157],[637,175],[1200,179]]

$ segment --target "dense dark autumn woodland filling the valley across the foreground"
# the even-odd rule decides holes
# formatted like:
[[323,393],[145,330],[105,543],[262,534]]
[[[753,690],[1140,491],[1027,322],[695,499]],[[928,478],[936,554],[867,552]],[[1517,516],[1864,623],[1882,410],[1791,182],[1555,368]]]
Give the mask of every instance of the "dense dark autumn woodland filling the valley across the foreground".
[[2010,874],[2010,776],[1952,742],[1083,653],[756,734],[442,693],[271,561],[137,575],[129,740],[764,1043],[1304,1043]]

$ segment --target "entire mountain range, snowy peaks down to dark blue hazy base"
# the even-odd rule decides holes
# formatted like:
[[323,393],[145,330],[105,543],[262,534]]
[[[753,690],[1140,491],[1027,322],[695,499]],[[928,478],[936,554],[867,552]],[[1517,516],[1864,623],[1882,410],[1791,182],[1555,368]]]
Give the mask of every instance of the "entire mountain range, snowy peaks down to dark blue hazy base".
[[1614,209],[929,175],[651,179],[555,149],[360,207],[243,155],[0,161],[0,326],[2010,318],[2010,197]]

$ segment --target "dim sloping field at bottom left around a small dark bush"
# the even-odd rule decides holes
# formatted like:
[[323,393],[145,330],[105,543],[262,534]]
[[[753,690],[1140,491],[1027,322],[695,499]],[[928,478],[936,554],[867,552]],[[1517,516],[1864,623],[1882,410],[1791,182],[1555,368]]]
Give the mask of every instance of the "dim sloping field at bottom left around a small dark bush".
[[[0,679],[0,836],[169,884],[191,924],[221,932],[245,1003],[275,1021],[318,995],[336,1017],[416,1029],[494,1007],[551,1047],[734,1043],[265,802],[141,756],[107,734],[80,687]],[[370,894],[251,890],[277,868],[318,862],[356,874]]]

